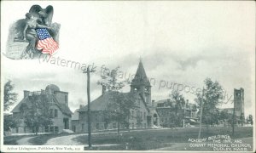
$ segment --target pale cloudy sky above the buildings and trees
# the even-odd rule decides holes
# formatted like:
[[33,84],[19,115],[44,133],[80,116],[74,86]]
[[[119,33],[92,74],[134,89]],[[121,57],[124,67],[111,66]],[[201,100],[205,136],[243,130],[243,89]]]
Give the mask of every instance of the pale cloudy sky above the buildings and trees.
[[[218,81],[231,100],[234,88],[244,88],[246,116],[255,103],[255,3],[253,2],[1,2],[1,52],[9,26],[23,19],[32,4],[54,7],[53,22],[61,24],[55,58],[96,65],[91,75],[91,99],[102,65],[120,66],[128,78],[140,57],[152,84],[152,99],[167,99],[167,84],[202,88],[207,77]],[[11,8],[11,9],[10,9]],[[13,12],[15,10],[15,12]],[[55,84],[69,93],[72,111],[86,105],[86,76],[81,70],[50,62],[13,60],[2,56],[2,82],[37,91]],[[3,83],[2,83],[3,86]],[[188,88],[187,88],[188,89]],[[128,92],[129,86],[123,89]],[[194,102],[195,95],[183,91]]]

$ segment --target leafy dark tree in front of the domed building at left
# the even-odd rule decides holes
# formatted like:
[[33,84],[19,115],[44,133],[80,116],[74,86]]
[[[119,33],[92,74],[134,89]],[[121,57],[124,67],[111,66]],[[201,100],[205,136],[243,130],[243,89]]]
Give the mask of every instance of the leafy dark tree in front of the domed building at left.
[[20,105],[21,117],[24,119],[24,123],[27,127],[32,129],[33,133],[38,134],[39,127],[45,127],[51,125],[52,114],[50,114],[49,95],[41,94],[28,97],[31,102],[31,107],[28,107],[26,103]]

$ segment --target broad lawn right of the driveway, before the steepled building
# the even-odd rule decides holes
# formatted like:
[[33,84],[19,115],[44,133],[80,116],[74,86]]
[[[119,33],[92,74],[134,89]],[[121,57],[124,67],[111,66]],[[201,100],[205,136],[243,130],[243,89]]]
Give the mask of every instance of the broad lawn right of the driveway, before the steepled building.
[[[154,150],[157,148],[169,147],[175,143],[188,143],[188,139],[197,139],[199,128],[184,129],[161,129],[131,131],[108,135],[92,135],[92,144],[113,144],[110,146],[94,147],[94,150]],[[232,129],[229,127],[207,127],[202,128],[201,138],[218,134],[229,134],[231,139],[253,137],[253,127],[236,127],[236,134],[232,136]],[[82,144],[88,144],[87,136],[79,136],[75,139]]]

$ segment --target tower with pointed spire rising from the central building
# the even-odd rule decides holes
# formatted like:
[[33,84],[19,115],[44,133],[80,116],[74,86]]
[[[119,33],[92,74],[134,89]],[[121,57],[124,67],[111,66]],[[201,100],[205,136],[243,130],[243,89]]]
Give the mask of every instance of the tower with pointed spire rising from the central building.
[[148,106],[151,106],[151,85],[140,59],[135,77],[131,81],[131,93],[137,92],[143,95]]

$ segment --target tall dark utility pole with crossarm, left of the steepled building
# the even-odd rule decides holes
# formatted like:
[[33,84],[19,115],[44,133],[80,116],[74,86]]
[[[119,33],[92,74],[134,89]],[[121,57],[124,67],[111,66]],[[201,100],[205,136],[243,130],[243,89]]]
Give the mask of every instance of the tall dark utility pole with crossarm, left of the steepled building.
[[90,65],[87,67],[87,71],[84,73],[87,74],[87,101],[88,101],[88,148],[91,149],[91,122],[90,122],[90,72],[95,70],[90,70]]

